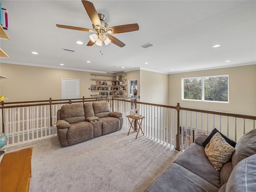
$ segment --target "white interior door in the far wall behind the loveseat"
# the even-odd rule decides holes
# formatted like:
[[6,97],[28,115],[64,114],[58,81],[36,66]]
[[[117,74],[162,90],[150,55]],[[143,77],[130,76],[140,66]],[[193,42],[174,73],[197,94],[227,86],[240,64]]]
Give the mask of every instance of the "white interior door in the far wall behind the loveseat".
[[79,79],[61,79],[62,99],[79,98]]

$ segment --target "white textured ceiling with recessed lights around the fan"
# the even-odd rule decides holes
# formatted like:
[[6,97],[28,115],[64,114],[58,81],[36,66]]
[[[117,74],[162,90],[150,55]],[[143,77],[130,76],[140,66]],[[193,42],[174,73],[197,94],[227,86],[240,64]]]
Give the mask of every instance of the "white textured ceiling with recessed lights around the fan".
[[[126,46],[104,45],[103,55],[100,46],[86,46],[91,32],[56,27],[92,29],[80,0],[1,2],[8,10],[10,37],[1,39],[1,48],[10,56],[1,62],[98,72],[141,68],[166,74],[256,62],[255,0],[90,1],[110,27],[139,25],[138,31],[112,34]],[[84,44],[76,44],[78,40]],[[140,47],[148,42],[154,46]],[[213,48],[215,44],[221,46]]]

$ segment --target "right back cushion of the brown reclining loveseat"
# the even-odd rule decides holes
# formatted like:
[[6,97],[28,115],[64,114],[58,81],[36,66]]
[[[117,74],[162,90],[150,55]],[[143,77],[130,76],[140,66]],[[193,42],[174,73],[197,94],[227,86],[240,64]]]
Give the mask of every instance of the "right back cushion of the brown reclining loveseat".
[[108,117],[111,112],[110,105],[106,101],[93,102],[92,106],[94,110],[94,115],[98,118]]

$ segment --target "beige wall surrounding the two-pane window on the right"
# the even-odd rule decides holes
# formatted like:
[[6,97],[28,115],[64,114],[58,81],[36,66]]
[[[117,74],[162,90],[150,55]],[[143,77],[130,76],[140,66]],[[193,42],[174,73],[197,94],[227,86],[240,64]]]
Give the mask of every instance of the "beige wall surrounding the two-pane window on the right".
[[[229,103],[182,100],[181,78],[229,75]],[[203,70],[169,75],[169,105],[256,115],[256,65]]]

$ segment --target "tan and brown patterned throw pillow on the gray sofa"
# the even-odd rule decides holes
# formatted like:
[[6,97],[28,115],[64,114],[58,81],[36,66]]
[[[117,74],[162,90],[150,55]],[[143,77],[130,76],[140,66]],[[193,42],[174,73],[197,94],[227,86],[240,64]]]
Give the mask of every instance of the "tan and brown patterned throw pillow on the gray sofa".
[[235,148],[226,142],[220,133],[214,134],[210,142],[205,147],[205,154],[217,171],[230,160]]

